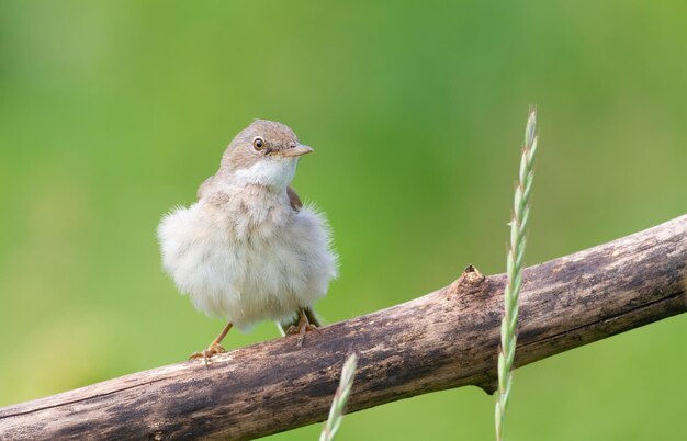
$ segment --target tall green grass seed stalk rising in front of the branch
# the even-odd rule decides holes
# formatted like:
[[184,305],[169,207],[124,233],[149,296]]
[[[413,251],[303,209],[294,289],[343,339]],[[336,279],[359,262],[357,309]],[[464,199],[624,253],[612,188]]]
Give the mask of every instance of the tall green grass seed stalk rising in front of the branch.
[[525,256],[527,223],[530,213],[530,195],[534,178],[534,154],[537,152],[537,109],[532,108],[525,129],[525,147],[520,160],[518,185],[515,190],[510,240],[506,259],[508,283],[504,293],[504,319],[500,324],[500,350],[498,352],[498,391],[494,412],[496,440],[504,439],[504,420],[513,387],[513,362],[518,339],[518,312],[522,263]]

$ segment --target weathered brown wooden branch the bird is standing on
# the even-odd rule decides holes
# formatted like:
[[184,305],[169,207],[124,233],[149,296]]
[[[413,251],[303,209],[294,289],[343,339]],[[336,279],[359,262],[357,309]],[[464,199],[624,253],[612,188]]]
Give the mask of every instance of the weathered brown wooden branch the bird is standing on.
[[[687,309],[687,215],[525,271],[516,365]],[[0,439],[249,439],[322,421],[346,355],[349,410],[477,385],[493,393],[504,275],[469,267],[424,297],[322,328],[0,409]],[[46,366],[49,369],[49,366]]]

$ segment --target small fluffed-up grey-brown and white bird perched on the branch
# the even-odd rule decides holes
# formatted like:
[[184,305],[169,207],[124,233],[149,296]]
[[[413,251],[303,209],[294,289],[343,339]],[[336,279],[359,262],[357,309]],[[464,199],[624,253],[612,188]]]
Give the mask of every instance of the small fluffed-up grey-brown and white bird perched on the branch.
[[[286,125],[256,120],[239,132],[198,201],[167,213],[157,228],[162,268],[196,309],[227,325],[190,359],[225,352],[222,340],[272,319],[297,335],[319,326],[313,304],[338,275],[325,216],[290,186],[313,148]],[[292,326],[289,326],[292,325]]]

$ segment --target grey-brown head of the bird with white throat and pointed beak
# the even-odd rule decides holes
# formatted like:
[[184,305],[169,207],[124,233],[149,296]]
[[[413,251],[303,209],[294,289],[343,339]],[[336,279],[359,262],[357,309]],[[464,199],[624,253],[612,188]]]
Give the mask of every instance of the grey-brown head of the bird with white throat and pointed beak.
[[232,140],[222,158],[221,171],[235,185],[282,191],[295,174],[299,157],[312,151],[284,124],[256,120]]

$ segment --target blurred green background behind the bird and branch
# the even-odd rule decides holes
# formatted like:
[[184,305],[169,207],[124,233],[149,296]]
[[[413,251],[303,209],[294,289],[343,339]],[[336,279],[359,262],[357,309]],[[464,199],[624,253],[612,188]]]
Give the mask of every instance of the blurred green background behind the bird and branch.
[[[316,149],[294,186],[341,255],[328,321],[468,263],[505,270],[530,103],[530,264],[684,214],[686,20],[678,1],[2,0],[0,405],[216,336],[162,274],[155,229],[255,117]],[[678,316],[519,370],[508,438],[687,438],[686,331]],[[474,387],[406,399],[348,416],[339,439],[488,440],[493,403]]]

